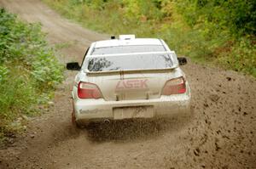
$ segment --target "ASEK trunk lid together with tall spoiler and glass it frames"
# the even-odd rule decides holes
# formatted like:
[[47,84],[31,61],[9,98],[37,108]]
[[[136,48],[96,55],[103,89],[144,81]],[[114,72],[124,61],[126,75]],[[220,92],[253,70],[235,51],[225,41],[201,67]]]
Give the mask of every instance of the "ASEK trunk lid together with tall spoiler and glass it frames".
[[86,59],[89,82],[106,100],[156,99],[177,67],[170,52],[99,55]]

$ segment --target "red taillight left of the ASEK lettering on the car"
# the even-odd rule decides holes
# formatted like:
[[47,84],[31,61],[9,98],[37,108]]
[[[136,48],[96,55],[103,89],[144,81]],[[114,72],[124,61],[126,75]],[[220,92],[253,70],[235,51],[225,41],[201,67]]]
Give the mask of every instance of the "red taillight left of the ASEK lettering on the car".
[[100,99],[102,93],[96,84],[79,82],[78,95],[80,99]]

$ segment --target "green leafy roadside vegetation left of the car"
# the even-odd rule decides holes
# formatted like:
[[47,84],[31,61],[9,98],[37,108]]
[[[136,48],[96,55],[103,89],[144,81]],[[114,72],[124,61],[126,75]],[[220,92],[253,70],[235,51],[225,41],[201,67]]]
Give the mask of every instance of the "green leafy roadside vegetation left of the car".
[[39,24],[27,24],[0,8],[0,144],[26,130],[62,79],[63,66]]

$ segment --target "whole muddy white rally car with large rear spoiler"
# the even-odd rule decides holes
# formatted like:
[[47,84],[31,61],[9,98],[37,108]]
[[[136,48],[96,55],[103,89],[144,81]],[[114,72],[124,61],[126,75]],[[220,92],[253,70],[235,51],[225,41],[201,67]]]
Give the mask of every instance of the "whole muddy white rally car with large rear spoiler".
[[189,113],[190,87],[179,65],[186,64],[161,39],[135,38],[93,42],[73,86],[73,122],[154,118]]

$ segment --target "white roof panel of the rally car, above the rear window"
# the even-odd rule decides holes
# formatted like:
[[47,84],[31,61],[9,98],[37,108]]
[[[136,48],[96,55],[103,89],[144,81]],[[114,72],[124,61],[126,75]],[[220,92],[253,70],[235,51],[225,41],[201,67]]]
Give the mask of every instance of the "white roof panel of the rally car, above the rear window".
[[94,48],[106,48],[126,45],[163,45],[157,38],[111,39],[95,42]]

